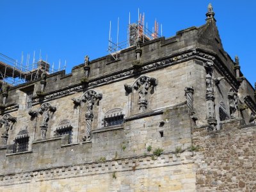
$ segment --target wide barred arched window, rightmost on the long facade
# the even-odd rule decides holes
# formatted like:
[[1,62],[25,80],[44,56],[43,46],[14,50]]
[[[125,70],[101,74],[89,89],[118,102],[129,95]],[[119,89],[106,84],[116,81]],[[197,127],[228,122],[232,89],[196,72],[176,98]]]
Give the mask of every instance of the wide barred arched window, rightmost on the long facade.
[[109,127],[114,125],[121,125],[124,123],[124,113],[121,108],[115,108],[109,110],[103,119],[103,127]]

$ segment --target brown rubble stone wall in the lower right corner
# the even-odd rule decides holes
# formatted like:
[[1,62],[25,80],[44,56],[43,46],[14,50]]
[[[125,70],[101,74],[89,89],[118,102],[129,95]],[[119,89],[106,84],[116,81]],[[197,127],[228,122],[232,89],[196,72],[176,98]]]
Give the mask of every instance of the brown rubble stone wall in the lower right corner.
[[256,190],[256,127],[233,120],[218,132],[193,130],[197,191]]

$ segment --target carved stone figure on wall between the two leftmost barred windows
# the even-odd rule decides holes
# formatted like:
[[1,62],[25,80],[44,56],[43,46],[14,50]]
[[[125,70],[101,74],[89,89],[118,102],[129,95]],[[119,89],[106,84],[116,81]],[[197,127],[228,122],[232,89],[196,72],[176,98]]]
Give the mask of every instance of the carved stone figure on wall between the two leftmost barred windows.
[[42,104],[40,109],[38,109],[38,113],[43,115],[43,120],[42,124],[40,125],[41,128],[41,138],[45,139],[46,138],[46,132],[48,129],[48,122],[50,119],[50,113],[54,113],[56,111],[56,107],[51,106],[49,103]]

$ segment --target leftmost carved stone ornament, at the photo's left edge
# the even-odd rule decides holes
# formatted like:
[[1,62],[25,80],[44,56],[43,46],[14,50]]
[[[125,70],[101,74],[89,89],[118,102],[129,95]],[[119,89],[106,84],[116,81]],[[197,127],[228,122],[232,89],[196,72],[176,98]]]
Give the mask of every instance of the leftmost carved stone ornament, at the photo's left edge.
[[7,140],[8,140],[8,131],[9,129],[12,129],[12,125],[17,121],[15,117],[13,117],[10,114],[4,115],[0,122],[1,122],[1,127],[4,128],[3,134],[1,136],[2,138],[2,144],[6,145]]

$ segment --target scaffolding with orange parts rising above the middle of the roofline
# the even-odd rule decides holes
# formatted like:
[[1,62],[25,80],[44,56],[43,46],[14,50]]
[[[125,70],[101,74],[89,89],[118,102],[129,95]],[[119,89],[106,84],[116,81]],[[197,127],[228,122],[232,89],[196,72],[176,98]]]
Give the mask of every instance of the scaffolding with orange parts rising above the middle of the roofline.
[[118,42],[118,33],[119,33],[119,18],[118,18],[118,30],[117,30],[117,38],[116,42],[113,42],[111,38],[111,22],[109,26],[109,42],[108,42],[108,52],[111,56],[118,60],[120,57],[120,51],[122,49],[126,49],[127,47],[131,47],[135,45],[136,38],[140,38],[142,43],[148,42],[149,40],[159,38],[161,35],[158,33],[158,22],[155,20],[155,25],[152,31],[147,28],[147,25],[144,24],[145,15],[141,15],[138,17],[138,21],[127,26],[127,40]]

